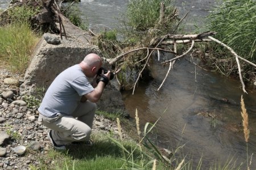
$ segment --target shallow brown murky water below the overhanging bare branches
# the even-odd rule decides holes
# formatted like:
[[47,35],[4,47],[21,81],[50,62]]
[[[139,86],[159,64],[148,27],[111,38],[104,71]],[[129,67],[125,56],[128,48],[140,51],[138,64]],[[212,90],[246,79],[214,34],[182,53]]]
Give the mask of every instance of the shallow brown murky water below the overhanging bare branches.
[[[152,67],[155,79],[150,84],[141,84],[134,95],[125,92],[126,108],[131,114],[137,108],[139,117],[146,121],[160,117],[157,124],[159,133],[155,137],[159,145],[175,149],[177,145],[185,144],[184,153],[189,153],[195,163],[203,154],[204,168],[209,168],[213,160],[225,163],[229,156],[234,155],[238,163],[244,162],[246,143],[241,126],[240,99],[243,95],[252,130],[250,155],[256,148],[253,130],[256,128],[256,92],[243,94],[238,80],[202,70],[189,59],[175,63],[160,91],[157,89],[168,68],[156,62]],[[212,129],[212,117],[200,113],[217,116],[215,130]],[[253,163],[252,166],[255,165]]]

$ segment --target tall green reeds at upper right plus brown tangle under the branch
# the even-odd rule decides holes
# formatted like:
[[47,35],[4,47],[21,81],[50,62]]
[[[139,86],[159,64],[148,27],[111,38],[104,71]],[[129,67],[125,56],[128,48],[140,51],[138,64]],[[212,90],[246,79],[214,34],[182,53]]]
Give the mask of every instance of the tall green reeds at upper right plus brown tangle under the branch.
[[[230,46],[238,56],[256,62],[256,3],[254,0],[224,0],[214,8],[208,20],[207,28],[217,32],[214,36],[216,39]],[[229,50],[214,42],[209,49],[214,60],[217,59],[214,65],[222,74],[236,74],[237,69],[234,67],[236,62]],[[243,62],[241,67],[243,76],[246,78],[249,78],[249,75],[245,74],[247,71],[254,72],[251,66],[243,66]]]

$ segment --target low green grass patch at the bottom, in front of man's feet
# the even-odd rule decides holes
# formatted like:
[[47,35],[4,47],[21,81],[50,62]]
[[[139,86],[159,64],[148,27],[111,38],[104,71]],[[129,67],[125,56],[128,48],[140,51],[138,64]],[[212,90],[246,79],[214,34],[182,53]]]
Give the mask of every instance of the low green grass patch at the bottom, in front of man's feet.
[[[50,150],[48,154],[42,157],[41,169],[113,169],[121,168],[123,165],[123,158],[127,156],[119,146],[115,145],[103,133],[96,133],[92,135],[93,146],[86,147],[82,145],[70,145],[67,152],[57,152]],[[137,146],[135,142],[123,141],[123,146],[127,150],[132,150]],[[134,151],[134,158],[139,158],[141,152]],[[137,159],[138,163],[141,159]],[[54,162],[53,164],[52,161]],[[51,165],[49,165],[51,164]]]

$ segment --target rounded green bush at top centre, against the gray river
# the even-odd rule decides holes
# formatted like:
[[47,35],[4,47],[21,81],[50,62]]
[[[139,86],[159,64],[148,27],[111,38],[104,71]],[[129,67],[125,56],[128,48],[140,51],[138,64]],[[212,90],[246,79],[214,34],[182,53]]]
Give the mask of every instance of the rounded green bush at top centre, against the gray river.
[[166,14],[171,14],[172,1],[170,0],[131,0],[127,6],[127,19],[130,27],[137,31],[145,31],[154,27],[160,16],[160,3],[166,5]]

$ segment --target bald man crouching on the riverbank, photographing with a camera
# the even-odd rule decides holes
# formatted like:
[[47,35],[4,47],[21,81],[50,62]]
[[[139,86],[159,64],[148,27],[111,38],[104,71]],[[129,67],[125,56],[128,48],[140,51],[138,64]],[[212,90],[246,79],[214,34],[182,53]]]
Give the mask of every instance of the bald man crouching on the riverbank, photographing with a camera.
[[[88,54],[79,64],[60,73],[38,109],[39,121],[49,128],[48,138],[55,150],[65,145],[90,140],[96,102],[109,82],[110,71],[97,80],[102,60],[97,54]],[[94,78],[92,85],[88,78]],[[97,83],[98,82],[98,83]]]

